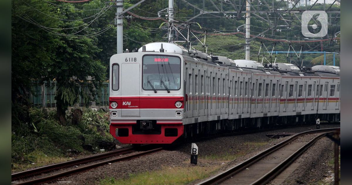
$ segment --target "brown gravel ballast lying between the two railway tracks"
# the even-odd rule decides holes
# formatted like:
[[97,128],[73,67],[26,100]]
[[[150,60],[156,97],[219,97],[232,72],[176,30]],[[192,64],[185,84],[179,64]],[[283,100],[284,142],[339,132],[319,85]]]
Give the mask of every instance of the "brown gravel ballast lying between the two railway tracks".
[[[339,126],[329,124],[321,125],[321,128]],[[299,133],[313,129],[315,129],[315,125],[197,141],[196,144],[199,147],[197,166],[220,166],[220,170],[213,172],[213,174],[219,173],[291,137],[272,139],[267,137],[267,134],[275,132]],[[116,162],[73,174],[69,177],[59,179],[55,184],[99,184],[101,179],[111,177],[114,179],[128,178],[130,174],[161,170],[163,167],[188,167],[191,165],[189,164],[190,151],[191,143],[185,143],[175,148],[169,147],[167,150],[141,156],[129,161]],[[223,156],[232,156],[233,160],[228,160]]]

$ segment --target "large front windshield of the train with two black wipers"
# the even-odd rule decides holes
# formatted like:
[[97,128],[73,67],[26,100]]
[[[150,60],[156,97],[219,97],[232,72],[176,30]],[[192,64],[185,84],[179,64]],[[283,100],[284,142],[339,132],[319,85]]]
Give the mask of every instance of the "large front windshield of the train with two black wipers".
[[143,56],[144,90],[180,90],[181,59],[175,56]]

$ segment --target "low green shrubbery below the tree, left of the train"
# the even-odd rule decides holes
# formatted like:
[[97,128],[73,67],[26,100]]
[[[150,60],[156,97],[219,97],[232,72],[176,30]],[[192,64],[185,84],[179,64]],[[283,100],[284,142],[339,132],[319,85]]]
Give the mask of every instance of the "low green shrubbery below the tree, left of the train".
[[[111,142],[109,113],[83,110],[77,125],[71,124],[71,113],[66,116],[67,125],[59,124],[56,111],[13,105],[12,163],[30,164],[38,155],[51,157],[72,156],[86,152],[83,144],[90,144],[99,151],[99,142]],[[29,110],[29,112],[25,111]]]

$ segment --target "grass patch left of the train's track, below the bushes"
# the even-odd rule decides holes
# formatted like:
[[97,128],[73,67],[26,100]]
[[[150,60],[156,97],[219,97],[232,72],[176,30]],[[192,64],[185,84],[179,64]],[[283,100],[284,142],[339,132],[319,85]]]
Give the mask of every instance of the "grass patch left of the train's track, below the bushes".
[[[24,162],[24,163],[14,162],[11,170],[12,173],[24,171],[28,168],[34,168],[34,167],[44,166],[52,163],[64,162],[72,159],[67,156],[48,156],[38,150],[35,150],[34,152],[28,154],[26,157],[31,159],[30,162]],[[34,162],[35,164],[32,165],[31,164],[32,162]]]

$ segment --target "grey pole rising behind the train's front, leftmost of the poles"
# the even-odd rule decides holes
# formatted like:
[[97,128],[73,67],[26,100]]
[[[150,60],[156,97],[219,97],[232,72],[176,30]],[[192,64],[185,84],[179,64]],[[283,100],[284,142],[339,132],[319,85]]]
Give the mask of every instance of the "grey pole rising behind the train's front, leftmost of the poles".
[[124,8],[124,1],[116,1],[116,40],[117,40],[117,54],[124,52],[124,19],[122,18],[122,11]]

